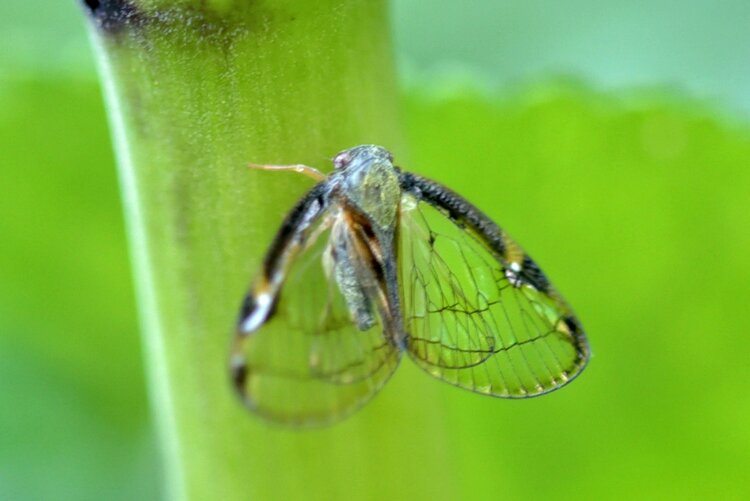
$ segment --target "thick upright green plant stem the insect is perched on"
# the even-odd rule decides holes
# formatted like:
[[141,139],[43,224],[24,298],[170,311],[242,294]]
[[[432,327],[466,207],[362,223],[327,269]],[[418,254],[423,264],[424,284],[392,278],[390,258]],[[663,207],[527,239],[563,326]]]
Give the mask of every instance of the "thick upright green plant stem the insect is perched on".
[[[262,252],[310,187],[301,176],[251,171],[247,163],[328,170],[326,158],[356,144],[401,150],[385,2],[87,4],[95,8],[92,38],[119,156],[170,497],[386,492],[378,488],[388,481],[383,471],[391,480],[408,472],[390,468],[384,455],[398,437],[384,449],[377,419],[306,433],[269,428],[236,401],[226,367],[239,302]],[[408,396],[394,398],[380,415],[397,416],[410,404]],[[430,433],[422,417],[413,416]],[[437,473],[443,459],[429,452],[421,467]],[[357,472],[365,480],[347,486],[343,476]],[[415,488],[445,487],[428,483]]]

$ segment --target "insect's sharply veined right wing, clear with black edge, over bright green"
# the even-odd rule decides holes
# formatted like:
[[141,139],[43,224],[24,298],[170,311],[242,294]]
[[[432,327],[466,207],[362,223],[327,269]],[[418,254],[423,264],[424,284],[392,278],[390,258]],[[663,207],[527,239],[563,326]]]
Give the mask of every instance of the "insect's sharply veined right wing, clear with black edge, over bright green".
[[402,172],[400,280],[407,349],[429,374],[504,398],[548,393],[586,366],[572,309],[477,208]]

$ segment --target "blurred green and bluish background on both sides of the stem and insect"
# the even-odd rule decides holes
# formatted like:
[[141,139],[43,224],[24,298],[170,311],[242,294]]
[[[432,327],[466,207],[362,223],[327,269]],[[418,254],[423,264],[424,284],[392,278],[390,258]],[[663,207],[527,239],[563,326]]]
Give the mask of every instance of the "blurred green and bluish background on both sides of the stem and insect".
[[[747,498],[750,4],[393,5],[409,169],[524,244],[595,354],[534,401],[442,385],[458,491]],[[0,47],[0,499],[158,498],[116,171],[77,5],[6,0]],[[378,398],[418,391],[402,381]],[[494,428],[476,422],[487,416]],[[430,446],[405,437],[399,461]]]

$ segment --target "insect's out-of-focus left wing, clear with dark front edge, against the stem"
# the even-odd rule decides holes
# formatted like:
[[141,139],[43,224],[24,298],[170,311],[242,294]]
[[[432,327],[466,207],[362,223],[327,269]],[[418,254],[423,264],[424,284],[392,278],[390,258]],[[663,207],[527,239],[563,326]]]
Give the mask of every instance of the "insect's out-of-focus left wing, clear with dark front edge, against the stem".
[[[248,294],[232,354],[235,387],[245,404],[271,421],[302,426],[354,412],[399,360],[377,299],[370,303],[374,322],[360,330],[332,277],[330,218],[321,214],[303,226],[289,238],[277,237],[285,245],[272,246],[280,257],[269,255],[264,276]],[[282,232],[291,230],[289,221],[285,227]],[[365,264],[354,263],[359,280],[370,284],[363,291],[372,294],[375,279]]]

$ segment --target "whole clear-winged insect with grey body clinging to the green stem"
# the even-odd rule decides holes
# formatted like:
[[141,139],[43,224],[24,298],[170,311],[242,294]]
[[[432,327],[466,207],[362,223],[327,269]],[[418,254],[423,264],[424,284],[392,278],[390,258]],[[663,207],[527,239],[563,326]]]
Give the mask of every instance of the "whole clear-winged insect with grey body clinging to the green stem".
[[230,371],[268,420],[322,425],[369,401],[406,353],[471,391],[527,398],[586,366],[581,324],[502,229],[384,148],[339,153],[287,215],[242,303]]

